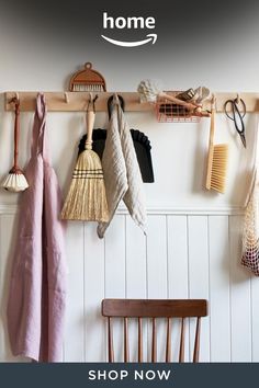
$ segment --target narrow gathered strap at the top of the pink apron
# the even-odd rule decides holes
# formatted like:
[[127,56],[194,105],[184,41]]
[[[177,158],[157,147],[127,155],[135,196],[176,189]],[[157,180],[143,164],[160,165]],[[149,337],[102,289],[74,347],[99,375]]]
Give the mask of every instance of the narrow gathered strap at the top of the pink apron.
[[45,95],[43,93],[38,93],[36,99],[36,110],[34,114],[31,155],[36,156],[42,153],[43,159],[48,160],[49,153],[45,134],[46,115],[47,106]]

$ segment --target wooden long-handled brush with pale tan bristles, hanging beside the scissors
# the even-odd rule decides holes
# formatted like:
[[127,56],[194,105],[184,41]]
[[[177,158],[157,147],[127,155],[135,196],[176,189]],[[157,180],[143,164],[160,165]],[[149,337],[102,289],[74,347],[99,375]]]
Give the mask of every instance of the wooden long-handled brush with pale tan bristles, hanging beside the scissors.
[[211,129],[207,155],[206,189],[225,193],[226,173],[228,164],[228,145],[214,145],[215,132],[215,98],[212,102]]

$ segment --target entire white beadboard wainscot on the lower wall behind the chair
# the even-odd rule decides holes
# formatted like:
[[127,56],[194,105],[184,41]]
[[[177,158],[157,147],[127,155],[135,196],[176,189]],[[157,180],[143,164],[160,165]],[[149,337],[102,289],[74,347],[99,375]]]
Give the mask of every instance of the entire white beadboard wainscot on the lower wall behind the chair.
[[[0,216],[0,361],[12,357],[5,326],[5,303],[13,248],[14,215]],[[103,297],[210,298],[202,319],[201,361],[259,361],[259,282],[240,265],[239,216],[148,216],[148,236],[130,216],[115,216],[105,239],[95,225],[69,222],[67,230],[68,296],[64,360],[106,361]],[[128,322],[131,360],[137,361],[137,324]],[[157,355],[165,361],[166,322],[157,321]],[[180,332],[172,324],[172,358]],[[189,339],[190,332],[190,339]],[[194,321],[187,321],[185,358],[193,349]],[[151,324],[144,323],[144,360],[150,360]],[[123,322],[114,322],[115,360],[123,361]],[[148,339],[148,352],[147,352]],[[190,341],[188,341],[188,339]],[[178,342],[177,342],[177,341]],[[176,343],[177,342],[177,343]]]

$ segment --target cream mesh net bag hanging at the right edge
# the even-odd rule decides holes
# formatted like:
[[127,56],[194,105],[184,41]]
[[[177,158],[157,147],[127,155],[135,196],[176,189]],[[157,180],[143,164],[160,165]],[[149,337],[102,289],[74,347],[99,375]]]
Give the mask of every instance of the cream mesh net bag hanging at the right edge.
[[248,192],[243,231],[241,264],[259,276],[259,149],[258,128],[255,141],[255,169]]

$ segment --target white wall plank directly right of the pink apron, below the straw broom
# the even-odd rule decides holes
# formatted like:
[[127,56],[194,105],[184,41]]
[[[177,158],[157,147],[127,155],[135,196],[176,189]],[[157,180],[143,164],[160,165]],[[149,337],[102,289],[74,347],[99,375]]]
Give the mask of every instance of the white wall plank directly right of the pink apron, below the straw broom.
[[68,293],[64,358],[85,361],[85,284],[83,224],[68,221],[67,228]]

